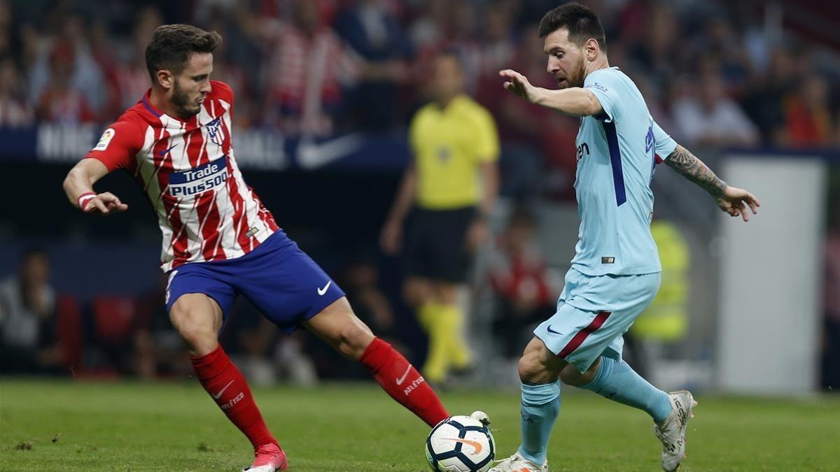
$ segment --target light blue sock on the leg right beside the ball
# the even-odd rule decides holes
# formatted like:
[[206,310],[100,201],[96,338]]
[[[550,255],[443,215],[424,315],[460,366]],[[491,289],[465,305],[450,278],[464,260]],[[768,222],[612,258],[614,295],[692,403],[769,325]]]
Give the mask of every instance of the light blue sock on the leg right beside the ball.
[[534,464],[545,462],[545,448],[559,411],[559,380],[551,384],[522,384],[522,445],[517,454]]

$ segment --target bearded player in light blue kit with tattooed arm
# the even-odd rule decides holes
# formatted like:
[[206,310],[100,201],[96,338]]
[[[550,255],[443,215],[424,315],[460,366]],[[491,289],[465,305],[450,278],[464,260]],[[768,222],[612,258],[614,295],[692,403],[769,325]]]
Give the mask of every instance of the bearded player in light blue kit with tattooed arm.
[[538,34],[559,90],[533,87],[501,71],[504,87],[528,102],[580,118],[575,193],[579,241],[553,317],[534,330],[519,360],[522,445],[491,471],[548,470],[546,444],[560,406],[560,383],[634,406],[654,419],[662,467],[685,456],[685,426],[696,405],[688,391],[665,393],[622,360],[622,334],[659,289],[659,255],[650,234],[656,162],[711,194],[724,212],[748,220],[759,201],[727,186],[676,144],[648,113],[633,81],[610,67],[601,23],[589,8],[566,3],[546,13]]

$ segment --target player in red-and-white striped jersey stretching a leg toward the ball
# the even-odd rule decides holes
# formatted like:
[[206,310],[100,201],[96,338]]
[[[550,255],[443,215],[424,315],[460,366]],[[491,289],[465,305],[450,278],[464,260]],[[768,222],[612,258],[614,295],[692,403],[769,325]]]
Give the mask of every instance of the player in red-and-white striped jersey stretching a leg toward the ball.
[[243,180],[232,139],[234,92],[211,81],[215,32],[186,24],[155,30],[146,48],[152,87],[102,134],[64,188],[82,212],[128,206],[93,184],[129,170],[148,194],[163,233],[166,307],[192,354],[198,380],[249,438],[249,472],[286,469],[286,454],[248,384],[218,344],[240,293],[286,333],[299,326],[364,364],[396,401],[433,426],[448,417],[417,370],[354,315],[329,276],[288,239]]

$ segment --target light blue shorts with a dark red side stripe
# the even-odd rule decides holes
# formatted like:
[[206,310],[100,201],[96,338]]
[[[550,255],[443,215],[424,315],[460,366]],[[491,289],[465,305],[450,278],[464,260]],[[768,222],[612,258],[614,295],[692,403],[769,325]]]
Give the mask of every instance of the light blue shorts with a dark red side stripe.
[[581,373],[601,355],[621,359],[622,335],[654,299],[660,279],[660,272],[591,276],[572,268],[557,312],[533,333]]

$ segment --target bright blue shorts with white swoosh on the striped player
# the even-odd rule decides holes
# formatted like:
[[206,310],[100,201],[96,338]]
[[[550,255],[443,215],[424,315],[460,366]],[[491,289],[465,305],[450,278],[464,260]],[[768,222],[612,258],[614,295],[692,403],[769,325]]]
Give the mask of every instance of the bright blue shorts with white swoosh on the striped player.
[[178,297],[186,293],[210,296],[225,317],[242,294],[287,334],[344,296],[282,230],[242,257],[193,262],[170,270],[166,310],[171,311]]

